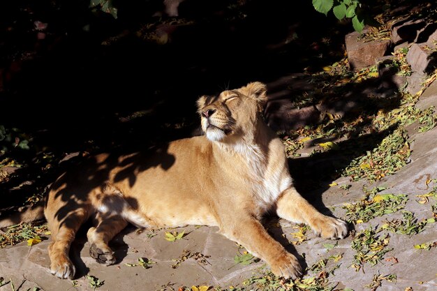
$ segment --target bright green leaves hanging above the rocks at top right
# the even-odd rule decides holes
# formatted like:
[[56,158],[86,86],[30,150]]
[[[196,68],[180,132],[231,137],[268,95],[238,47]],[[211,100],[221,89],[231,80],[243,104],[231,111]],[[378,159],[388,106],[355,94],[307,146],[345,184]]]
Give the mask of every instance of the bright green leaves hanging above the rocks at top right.
[[339,20],[350,18],[353,28],[358,32],[364,28],[364,18],[360,14],[362,4],[358,0],[313,0],[313,7],[325,15],[332,10]]

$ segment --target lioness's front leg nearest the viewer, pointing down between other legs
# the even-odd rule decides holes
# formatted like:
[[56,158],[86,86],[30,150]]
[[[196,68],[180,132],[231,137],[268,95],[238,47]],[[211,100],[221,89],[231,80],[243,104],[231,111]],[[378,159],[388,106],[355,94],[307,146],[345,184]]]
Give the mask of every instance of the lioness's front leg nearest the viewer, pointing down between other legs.
[[276,276],[292,279],[302,276],[302,267],[297,258],[274,240],[256,218],[234,217],[229,223],[223,220],[223,225],[225,226],[221,227],[221,233],[225,237],[241,244],[249,253],[267,262]]

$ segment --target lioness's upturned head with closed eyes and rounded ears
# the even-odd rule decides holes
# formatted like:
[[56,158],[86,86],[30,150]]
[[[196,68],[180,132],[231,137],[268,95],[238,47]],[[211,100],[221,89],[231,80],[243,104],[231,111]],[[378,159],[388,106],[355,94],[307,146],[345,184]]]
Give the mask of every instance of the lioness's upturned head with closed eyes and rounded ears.
[[208,140],[216,142],[252,133],[266,100],[266,86],[260,82],[218,96],[202,96],[198,100],[202,130]]

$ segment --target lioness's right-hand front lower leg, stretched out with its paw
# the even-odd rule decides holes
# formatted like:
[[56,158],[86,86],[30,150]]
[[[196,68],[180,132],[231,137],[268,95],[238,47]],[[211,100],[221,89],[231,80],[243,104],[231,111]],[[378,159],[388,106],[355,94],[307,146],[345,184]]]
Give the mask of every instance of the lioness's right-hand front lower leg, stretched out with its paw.
[[325,239],[343,239],[348,234],[345,221],[321,214],[295,188],[288,188],[281,194],[276,202],[276,214],[288,221],[308,224]]

